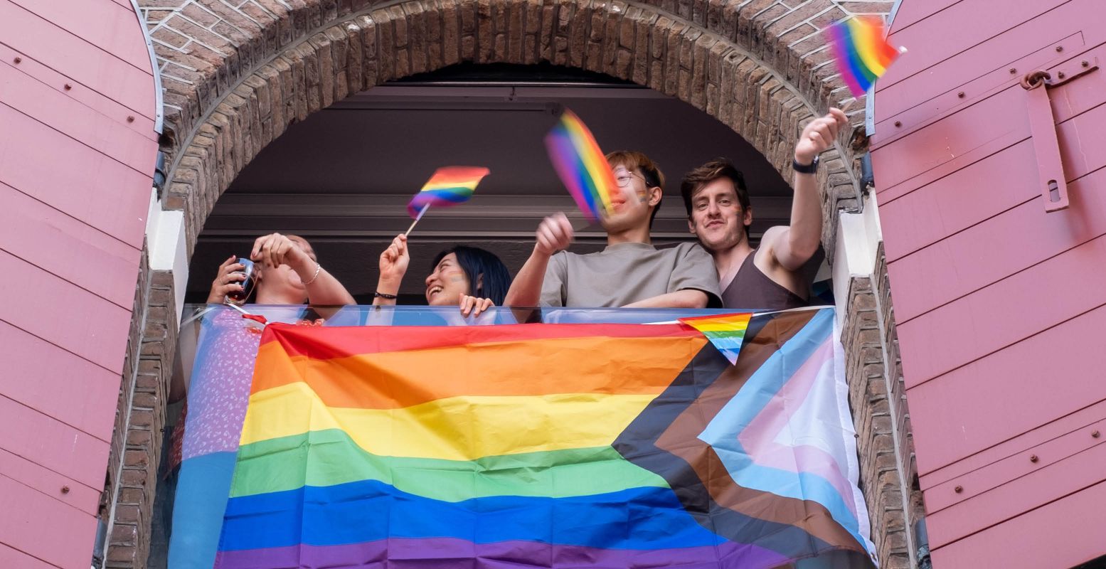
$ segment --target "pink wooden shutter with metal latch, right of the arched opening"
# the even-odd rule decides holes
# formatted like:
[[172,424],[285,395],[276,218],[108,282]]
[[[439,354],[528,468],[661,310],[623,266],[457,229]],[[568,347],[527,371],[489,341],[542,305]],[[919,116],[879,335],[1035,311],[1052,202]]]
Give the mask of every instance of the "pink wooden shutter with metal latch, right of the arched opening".
[[909,51],[872,156],[939,569],[1106,555],[1106,69],[1047,89],[1061,211],[1018,84],[1106,65],[1103,22],[1100,0],[904,0],[890,29]]

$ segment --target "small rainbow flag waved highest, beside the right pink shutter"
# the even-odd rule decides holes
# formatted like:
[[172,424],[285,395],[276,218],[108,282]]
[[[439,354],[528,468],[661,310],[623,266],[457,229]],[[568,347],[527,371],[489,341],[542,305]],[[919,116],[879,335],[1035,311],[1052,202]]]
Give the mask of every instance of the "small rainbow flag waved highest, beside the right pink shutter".
[[872,89],[899,51],[887,43],[884,20],[878,15],[854,15],[826,29],[842,79],[859,97]]

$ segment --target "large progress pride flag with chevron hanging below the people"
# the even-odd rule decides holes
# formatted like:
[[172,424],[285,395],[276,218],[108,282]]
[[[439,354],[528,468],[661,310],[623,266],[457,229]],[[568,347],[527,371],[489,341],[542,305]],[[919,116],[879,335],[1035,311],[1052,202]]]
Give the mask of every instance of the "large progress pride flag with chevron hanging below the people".
[[270,324],[216,567],[873,567],[833,321]]

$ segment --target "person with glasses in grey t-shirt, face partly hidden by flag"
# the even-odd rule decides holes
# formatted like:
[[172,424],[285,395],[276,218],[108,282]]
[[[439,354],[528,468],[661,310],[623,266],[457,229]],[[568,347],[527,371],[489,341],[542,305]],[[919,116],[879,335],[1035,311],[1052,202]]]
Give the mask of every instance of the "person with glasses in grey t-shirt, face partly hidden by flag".
[[[513,307],[706,308],[720,306],[718,275],[698,244],[658,249],[649,229],[657,217],[665,176],[643,153],[607,155],[619,195],[601,219],[607,247],[564,251],[574,231],[564,214],[546,217],[536,244],[514,278],[505,304]],[[560,251],[560,252],[557,252]]]

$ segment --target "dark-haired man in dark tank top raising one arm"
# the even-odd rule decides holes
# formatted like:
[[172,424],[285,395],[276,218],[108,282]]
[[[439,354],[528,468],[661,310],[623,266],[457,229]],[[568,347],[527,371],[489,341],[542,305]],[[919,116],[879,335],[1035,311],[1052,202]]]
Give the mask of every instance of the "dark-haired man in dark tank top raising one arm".
[[803,128],[795,144],[791,225],[769,228],[757,249],[749,244],[753,211],[741,172],[719,158],[684,177],[680,193],[688,226],[714,258],[722,306],[785,310],[808,304],[811,280],[823,256],[817,156],[846,124],[845,113],[831,108]]

